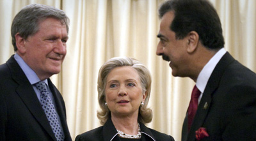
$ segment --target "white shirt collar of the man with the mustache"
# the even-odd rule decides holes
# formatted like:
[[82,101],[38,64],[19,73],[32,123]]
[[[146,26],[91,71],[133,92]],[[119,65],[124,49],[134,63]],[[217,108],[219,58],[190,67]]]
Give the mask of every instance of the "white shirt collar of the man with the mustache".
[[204,89],[206,87],[206,84],[211,77],[212,71],[214,70],[215,66],[220,61],[221,57],[224,56],[224,54],[227,51],[225,48],[221,48],[211,59],[210,61],[205,64],[202,71],[199,73],[198,78],[196,80],[196,87],[200,90],[201,93],[204,93]]

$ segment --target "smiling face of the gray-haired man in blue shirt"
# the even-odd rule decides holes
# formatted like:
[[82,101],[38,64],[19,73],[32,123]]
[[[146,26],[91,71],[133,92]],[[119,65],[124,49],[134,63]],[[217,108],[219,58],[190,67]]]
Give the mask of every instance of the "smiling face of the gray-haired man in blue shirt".
[[24,41],[22,58],[40,80],[60,73],[66,55],[67,28],[57,19],[47,18],[39,22],[37,33]]

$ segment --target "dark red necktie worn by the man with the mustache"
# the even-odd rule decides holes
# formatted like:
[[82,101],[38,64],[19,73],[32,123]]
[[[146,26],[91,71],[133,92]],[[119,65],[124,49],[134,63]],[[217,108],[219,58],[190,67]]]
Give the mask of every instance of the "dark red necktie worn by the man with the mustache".
[[196,114],[196,110],[198,107],[198,98],[200,96],[201,92],[197,89],[196,85],[193,88],[192,94],[191,94],[191,100],[188,107],[188,131],[191,128],[191,124],[193,122],[193,119]]

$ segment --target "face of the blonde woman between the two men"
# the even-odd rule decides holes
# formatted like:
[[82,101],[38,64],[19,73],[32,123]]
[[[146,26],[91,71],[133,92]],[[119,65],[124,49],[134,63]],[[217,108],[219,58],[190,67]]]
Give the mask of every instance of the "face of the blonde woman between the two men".
[[110,71],[106,81],[106,102],[111,116],[136,116],[141,101],[145,101],[140,76],[131,66],[121,66]]

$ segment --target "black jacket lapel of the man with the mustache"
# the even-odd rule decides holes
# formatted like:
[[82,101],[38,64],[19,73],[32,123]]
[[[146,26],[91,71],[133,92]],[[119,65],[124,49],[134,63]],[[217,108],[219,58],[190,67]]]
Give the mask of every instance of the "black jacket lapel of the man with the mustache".
[[212,71],[211,77],[209,78],[205,87],[202,100],[198,105],[195,119],[191,126],[191,130],[189,131],[188,140],[196,140],[195,131],[202,127],[204,124],[205,118],[209,112],[209,108],[211,108],[212,95],[216,89],[218,89],[218,85],[220,84],[221,75],[223,75],[227,66],[233,61],[235,61],[234,58],[227,52]]

